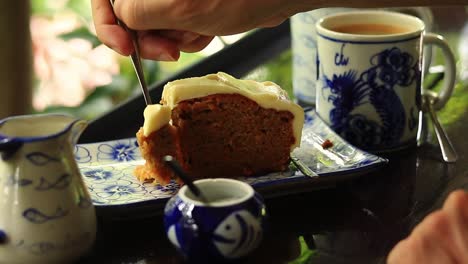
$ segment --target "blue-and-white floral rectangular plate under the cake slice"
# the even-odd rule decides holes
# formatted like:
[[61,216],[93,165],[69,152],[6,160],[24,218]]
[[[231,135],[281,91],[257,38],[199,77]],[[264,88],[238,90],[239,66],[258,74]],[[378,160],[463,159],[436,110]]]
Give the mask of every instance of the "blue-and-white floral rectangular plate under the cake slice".
[[[262,193],[262,189],[275,190],[288,188],[294,193],[291,184],[317,182],[335,175],[355,175],[368,172],[387,163],[387,160],[364,152],[344,141],[335,134],[312,109],[306,110],[301,147],[294,151],[310,169],[319,176],[310,178],[291,167],[284,172],[270,173],[258,177],[240,177],[239,180],[251,184]],[[329,140],[333,146],[322,147]],[[165,203],[178,190],[179,185],[141,183],[133,174],[137,165],[144,163],[135,138],[79,144],[75,157],[83,179],[97,207],[133,205],[140,202],[158,200]],[[285,183],[288,183],[287,187]],[[313,184],[312,184],[313,185]]]

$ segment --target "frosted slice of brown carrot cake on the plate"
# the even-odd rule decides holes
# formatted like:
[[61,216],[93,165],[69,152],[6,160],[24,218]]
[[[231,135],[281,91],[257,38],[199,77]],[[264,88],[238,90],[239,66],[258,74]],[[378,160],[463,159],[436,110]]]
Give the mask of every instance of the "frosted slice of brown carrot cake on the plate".
[[146,163],[135,174],[161,184],[176,178],[172,155],[194,178],[255,176],[288,168],[299,146],[303,109],[272,82],[226,73],[169,82],[148,105],[137,140]]

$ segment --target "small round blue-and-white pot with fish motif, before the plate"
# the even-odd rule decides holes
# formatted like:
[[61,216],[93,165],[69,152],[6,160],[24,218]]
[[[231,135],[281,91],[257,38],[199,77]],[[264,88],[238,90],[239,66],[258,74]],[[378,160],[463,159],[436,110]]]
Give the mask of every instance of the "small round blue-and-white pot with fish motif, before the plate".
[[241,259],[260,244],[266,209],[249,184],[234,179],[202,179],[195,196],[183,186],[166,204],[164,228],[190,262]]

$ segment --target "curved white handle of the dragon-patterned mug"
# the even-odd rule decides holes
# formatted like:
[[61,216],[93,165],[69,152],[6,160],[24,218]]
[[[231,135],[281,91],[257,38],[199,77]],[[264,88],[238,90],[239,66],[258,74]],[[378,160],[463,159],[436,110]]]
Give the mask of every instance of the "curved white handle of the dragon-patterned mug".
[[445,71],[444,71],[444,83],[439,93],[433,91],[425,91],[425,93],[432,93],[435,98],[434,109],[440,110],[452,96],[453,89],[455,87],[455,56],[453,55],[452,49],[448,45],[447,41],[438,34],[426,33],[423,37],[424,45],[435,45],[442,50],[442,55],[445,58]]

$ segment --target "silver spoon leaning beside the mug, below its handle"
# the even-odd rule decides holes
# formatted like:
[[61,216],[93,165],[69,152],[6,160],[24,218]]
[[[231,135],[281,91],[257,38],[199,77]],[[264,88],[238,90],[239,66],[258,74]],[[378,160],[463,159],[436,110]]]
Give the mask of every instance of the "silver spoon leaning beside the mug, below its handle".
[[457,152],[450,142],[447,133],[439,122],[437,118],[436,111],[434,110],[434,103],[437,98],[430,94],[424,93],[422,96],[423,111],[429,112],[429,115],[434,124],[437,140],[439,141],[440,151],[442,152],[442,157],[446,162],[456,162],[458,159]]

